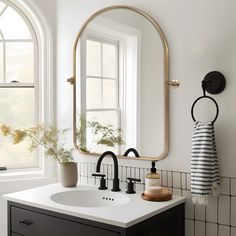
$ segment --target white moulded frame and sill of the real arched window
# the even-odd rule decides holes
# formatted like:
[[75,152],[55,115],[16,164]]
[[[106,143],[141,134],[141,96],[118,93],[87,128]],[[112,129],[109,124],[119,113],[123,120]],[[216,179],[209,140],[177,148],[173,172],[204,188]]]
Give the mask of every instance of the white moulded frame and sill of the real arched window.
[[[52,34],[48,23],[36,6],[30,6],[23,0],[1,0],[2,2],[13,7],[20,15],[27,18],[32,25],[37,38],[37,80],[35,82],[35,96],[38,97],[38,109],[35,114],[36,122],[51,124],[55,121],[55,91],[53,78],[53,49]],[[32,3],[31,3],[32,5]],[[27,21],[26,21],[27,22]],[[5,84],[5,86],[14,86]],[[32,84],[22,84],[22,86],[32,86]],[[37,91],[37,92],[36,92]],[[43,150],[39,149],[39,167],[0,171],[0,181],[15,178],[32,178],[32,177],[53,177],[55,172],[54,161],[45,158]]]

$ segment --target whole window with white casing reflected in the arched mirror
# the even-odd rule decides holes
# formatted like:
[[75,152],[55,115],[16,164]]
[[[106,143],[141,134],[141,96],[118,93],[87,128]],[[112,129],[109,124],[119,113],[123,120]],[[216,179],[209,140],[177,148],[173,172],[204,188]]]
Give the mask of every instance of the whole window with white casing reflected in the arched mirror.
[[[140,41],[138,29],[104,17],[90,24],[83,33],[79,52],[82,63],[78,66],[81,73],[79,116],[85,120],[81,122],[84,150],[102,153],[105,147],[121,154],[126,147],[137,148]],[[96,131],[96,122],[117,131],[116,137],[120,133],[123,142],[114,146],[98,142],[104,133]],[[111,140],[114,137],[110,137]]]

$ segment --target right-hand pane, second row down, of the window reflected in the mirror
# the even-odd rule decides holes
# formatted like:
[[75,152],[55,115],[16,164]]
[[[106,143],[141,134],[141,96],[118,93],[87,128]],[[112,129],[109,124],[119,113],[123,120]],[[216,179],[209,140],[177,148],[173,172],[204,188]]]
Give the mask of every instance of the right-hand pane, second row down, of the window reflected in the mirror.
[[110,79],[103,80],[103,108],[117,107],[116,81]]

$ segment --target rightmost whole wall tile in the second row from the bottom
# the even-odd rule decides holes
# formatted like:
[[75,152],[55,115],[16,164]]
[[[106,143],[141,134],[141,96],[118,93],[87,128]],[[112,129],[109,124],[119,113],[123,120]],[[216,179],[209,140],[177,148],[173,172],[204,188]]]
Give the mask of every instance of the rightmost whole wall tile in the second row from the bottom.
[[219,223],[223,225],[230,224],[230,197],[219,197],[219,211],[218,211]]

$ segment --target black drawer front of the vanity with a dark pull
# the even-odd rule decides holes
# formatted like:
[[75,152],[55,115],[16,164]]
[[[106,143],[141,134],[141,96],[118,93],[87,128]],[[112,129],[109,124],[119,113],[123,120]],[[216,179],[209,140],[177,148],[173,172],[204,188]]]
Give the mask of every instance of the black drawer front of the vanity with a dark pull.
[[[119,236],[120,233],[11,206],[11,232],[23,236]],[[17,235],[16,234],[16,235]],[[16,236],[11,234],[12,236]]]

